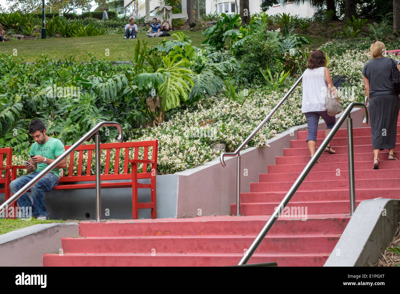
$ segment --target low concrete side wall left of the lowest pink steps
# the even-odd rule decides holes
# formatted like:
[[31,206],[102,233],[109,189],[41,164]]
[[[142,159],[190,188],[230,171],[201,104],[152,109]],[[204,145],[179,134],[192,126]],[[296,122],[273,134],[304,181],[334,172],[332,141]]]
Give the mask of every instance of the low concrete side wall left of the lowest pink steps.
[[60,253],[61,238],[79,236],[78,223],[36,224],[0,235],[0,266],[43,266],[43,254]]

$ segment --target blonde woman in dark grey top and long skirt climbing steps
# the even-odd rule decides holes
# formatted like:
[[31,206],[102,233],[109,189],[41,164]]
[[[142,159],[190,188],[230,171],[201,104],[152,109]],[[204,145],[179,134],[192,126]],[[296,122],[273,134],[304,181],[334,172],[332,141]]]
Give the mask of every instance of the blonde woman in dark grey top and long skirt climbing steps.
[[[393,154],[396,146],[397,118],[400,109],[399,94],[394,90],[392,80],[392,64],[397,61],[386,58],[385,45],[380,41],[372,43],[372,60],[363,70],[365,92],[369,99],[371,120],[372,149],[374,150],[374,170],[379,169],[379,151],[388,149],[388,160],[397,160]],[[400,70],[400,66],[397,65]]]

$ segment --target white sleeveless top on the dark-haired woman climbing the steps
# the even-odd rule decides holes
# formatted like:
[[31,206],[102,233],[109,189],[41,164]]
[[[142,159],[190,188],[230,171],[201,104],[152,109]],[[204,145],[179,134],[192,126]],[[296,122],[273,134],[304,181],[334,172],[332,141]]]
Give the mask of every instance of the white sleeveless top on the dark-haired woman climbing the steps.
[[325,67],[307,68],[303,74],[303,102],[301,112],[324,111],[325,107]]

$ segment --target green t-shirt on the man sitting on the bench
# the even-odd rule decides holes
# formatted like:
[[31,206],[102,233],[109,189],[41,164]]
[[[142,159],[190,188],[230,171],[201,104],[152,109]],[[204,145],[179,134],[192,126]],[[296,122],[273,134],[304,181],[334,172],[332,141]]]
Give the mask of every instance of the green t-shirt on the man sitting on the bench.
[[[44,144],[38,144],[37,142],[34,142],[30,147],[30,155],[41,155],[50,159],[56,159],[56,156],[59,156],[64,152],[65,148],[62,142],[52,137],[50,137]],[[48,166],[48,164],[38,163],[37,166],[38,168],[36,172],[41,172]],[[53,168],[50,170],[50,172],[60,178],[60,170],[61,168]]]

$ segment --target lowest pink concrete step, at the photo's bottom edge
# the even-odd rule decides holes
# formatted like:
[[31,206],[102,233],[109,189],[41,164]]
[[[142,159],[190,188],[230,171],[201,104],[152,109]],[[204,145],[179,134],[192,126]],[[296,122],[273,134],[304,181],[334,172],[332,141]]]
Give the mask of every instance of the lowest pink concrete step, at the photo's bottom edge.
[[[329,254],[254,254],[251,263],[277,262],[279,266],[323,266]],[[243,254],[221,253],[106,253],[106,254],[44,254],[43,266],[232,266]]]

